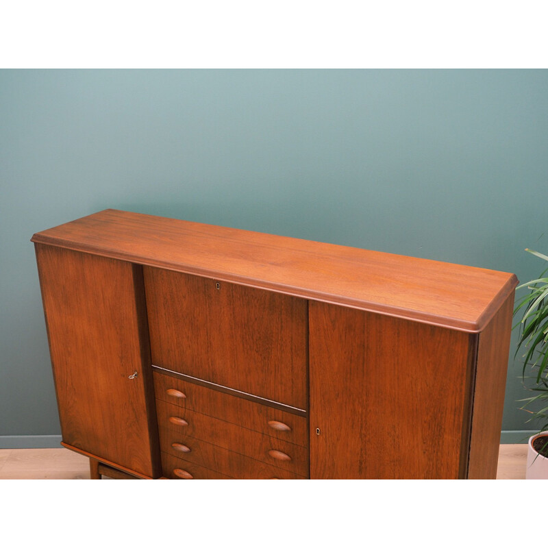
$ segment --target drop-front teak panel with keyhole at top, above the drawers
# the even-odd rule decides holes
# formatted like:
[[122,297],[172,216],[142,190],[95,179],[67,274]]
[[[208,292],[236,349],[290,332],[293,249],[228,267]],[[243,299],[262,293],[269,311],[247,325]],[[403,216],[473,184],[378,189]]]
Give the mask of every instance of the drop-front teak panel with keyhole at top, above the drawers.
[[308,302],[143,267],[152,362],[305,409]]

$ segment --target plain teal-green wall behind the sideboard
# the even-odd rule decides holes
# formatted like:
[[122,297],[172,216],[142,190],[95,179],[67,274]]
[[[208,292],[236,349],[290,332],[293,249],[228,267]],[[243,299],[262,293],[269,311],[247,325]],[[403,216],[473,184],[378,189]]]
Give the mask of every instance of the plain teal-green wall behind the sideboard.
[[[119,208],[525,281],[523,249],[548,251],[548,71],[3,70],[0,191],[0,447],[57,445],[34,232]],[[533,428],[520,374],[504,430]]]

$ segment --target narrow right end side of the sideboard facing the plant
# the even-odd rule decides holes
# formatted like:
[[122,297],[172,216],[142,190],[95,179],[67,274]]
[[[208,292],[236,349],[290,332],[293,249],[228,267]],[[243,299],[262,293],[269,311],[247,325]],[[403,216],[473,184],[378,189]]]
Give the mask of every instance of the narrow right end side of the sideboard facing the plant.
[[479,334],[469,479],[497,477],[513,307],[512,294]]

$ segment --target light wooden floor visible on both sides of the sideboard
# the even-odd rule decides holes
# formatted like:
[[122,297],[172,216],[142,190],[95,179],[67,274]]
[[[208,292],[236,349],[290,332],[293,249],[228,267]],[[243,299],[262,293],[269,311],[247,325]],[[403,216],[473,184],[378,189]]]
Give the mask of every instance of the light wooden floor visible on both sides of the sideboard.
[[[525,479],[527,445],[501,445],[497,479]],[[69,449],[0,449],[0,479],[89,479],[87,457]]]

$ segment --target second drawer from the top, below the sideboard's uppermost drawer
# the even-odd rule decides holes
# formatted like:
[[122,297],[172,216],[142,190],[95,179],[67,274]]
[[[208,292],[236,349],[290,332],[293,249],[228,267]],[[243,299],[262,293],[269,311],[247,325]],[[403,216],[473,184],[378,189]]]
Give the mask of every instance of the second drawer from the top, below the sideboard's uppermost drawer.
[[164,401],[158,400],[156,409],[163,451],[168,451],[168,446],[172,443],[191,447],[195,440],[201,440],[299,475],[308,475],[308,449],[300,445],[265,436]]

